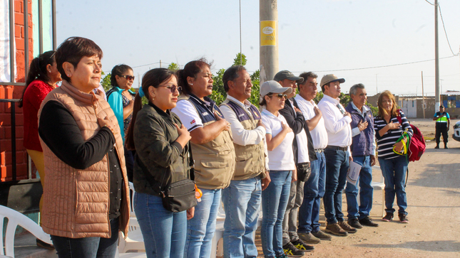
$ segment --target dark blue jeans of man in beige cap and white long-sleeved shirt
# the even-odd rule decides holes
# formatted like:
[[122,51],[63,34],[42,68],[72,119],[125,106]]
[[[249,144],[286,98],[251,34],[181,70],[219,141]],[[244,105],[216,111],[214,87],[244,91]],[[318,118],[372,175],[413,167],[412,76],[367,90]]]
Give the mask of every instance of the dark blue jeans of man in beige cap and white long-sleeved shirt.
[[326,156],[326,191],[324,192],[324,215],[327,224],[344,221],[342,213],[342,190],[347,183],[349,168],[348,151],[324,149]]

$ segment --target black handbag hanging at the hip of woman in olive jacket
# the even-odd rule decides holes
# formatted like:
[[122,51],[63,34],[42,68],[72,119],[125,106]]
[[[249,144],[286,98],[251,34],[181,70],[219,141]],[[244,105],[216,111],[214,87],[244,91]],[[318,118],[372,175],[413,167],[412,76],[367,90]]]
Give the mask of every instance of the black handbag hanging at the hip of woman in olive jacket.
[[[193,173],[193,156],[190,143],[188,144],[188,150],[190,154],[189,177],[190,173]],[[197,205],[197,200],[195,198],[195,182],[190,180],[190,178],[170,183],[161,193],[163,194],[161,198],[163,207],[173,213],[179,213]]]

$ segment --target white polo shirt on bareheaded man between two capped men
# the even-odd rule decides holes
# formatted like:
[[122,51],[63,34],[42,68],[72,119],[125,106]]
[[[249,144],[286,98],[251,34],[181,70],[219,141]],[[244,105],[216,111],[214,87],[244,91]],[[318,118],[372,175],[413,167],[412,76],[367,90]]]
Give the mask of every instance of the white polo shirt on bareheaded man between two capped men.
[[[297,95],[295,96],[295,101],[299,105],[300,111],[305,117],[306,120],[310,120],[316,116],[315,114],[315,107],[317,107],[316,103],[311,100],[305,100],[302,96]],[[326,127],[324,126],[324,119],[323,117],[320,118],[315,129],[310,131],[310,135],[312,136],[313,147],[315,149],[324,149],[327,146],[327,131]]]

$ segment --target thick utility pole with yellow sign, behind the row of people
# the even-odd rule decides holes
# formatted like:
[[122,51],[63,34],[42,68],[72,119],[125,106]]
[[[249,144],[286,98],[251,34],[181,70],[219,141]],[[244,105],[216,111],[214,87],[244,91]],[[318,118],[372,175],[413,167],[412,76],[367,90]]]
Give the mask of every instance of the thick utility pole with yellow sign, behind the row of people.
[[259,0],[260,84],[273,80],[278,72],[278,7],[277,0]]

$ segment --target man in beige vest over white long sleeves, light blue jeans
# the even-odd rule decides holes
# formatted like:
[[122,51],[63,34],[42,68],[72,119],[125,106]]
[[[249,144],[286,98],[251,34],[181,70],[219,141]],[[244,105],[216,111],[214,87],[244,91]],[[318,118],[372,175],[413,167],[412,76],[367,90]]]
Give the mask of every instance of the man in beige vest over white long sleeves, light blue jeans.
[[253,233],[257,230],[262,190],[270,183],[265,170],[265,127],[260,112],[247,99],[252,83],[242,65],[224,72],[227,99],[220,105],[231,123],[236,168],[230,186],[223,189],[225,209],[224,257],[257,257]]

